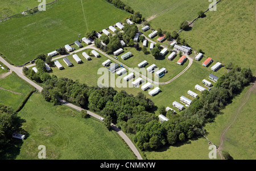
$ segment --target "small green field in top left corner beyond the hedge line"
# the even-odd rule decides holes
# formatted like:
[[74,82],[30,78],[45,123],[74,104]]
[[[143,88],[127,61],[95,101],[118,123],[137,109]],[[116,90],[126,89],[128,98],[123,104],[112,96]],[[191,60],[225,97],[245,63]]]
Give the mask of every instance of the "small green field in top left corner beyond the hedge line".
[[38,0],[0,0],[0,19],[26,11],[27,7],[28,9],[32,9],[33,7],[38,6],[39,3]]

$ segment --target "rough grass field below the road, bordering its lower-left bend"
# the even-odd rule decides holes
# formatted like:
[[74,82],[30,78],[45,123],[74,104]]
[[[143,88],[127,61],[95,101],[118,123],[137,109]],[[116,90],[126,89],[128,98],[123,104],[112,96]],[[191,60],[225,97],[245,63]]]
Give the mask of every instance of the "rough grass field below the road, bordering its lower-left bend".
[[26,120],[23,128],[29,136],[16,159],[38,159],[39,145],[46,146],[47,159],[135,159],[116,132],[66,106],[53,106],[40,94],[33,94],[18,115]]

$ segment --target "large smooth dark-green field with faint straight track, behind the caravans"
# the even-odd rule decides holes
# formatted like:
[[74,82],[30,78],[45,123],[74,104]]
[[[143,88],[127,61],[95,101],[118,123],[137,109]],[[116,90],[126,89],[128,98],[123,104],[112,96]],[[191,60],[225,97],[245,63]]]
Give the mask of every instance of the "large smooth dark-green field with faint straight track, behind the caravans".
[[0,52],[15,65],[22,65],[38,53],[74,43],[79,34],[84,37],[87,31],[102,31],[129,15],[105,0],[57,1],[46,11],[0,23]]

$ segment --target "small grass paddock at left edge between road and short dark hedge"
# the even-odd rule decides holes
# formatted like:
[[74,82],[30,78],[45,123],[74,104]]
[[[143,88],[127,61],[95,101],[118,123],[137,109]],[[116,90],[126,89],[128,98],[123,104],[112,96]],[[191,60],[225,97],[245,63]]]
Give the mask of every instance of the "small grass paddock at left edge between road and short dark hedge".
[[6,78],[0,78],[0,87],[15,91],[16,93],[21,93],[15,94],[7,90],[0,89],[0,103],[11,106],[14,110],[19,106],[26,94],[31,90],[31,86],[19,78],[15,73],[11,73]]

